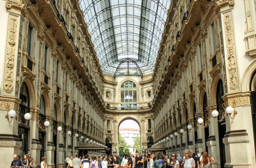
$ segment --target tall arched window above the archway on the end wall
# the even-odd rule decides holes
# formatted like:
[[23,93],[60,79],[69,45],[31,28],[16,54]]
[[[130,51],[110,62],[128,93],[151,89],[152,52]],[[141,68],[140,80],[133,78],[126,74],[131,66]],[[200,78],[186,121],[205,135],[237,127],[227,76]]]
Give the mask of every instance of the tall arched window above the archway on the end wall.
[[130,80],[121,85],[121,108],[137,109],[137,88],[135,83]]

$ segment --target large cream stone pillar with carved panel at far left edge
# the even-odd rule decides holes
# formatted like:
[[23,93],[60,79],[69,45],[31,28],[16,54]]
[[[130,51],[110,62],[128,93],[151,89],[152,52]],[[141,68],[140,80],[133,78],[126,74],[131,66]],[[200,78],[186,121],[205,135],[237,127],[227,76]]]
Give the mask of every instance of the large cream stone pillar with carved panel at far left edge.
[[[13,154],[19,154],[19,149],[22,142],[18,138],[18,120],[14,117],[11,122],[5,118],[8,110],[14,109],[18,111],[20,104],[19,96],[19,72],[20,72],[20,57],[22,56],[22,32],[23,32],[23,12],[26,10],[25,4],[22,1],[2,1],[0,5],[7,8],[7,12],[1,14],[2,27],[1,34],[5,47],[0,49],[2,57],[0,66],[2,71],[0,75],[1,96],[0,96],[0,117],[3,119],[0,129],[0,160],[3,163],[2,167],[10,167],[13,160]],[[20,36],[19,36],[19,33]],[[16,77],[18,75],[18,77]],[[15,87],[16,86],[16,87]],[[16,96],[16,97],[15,97]],[[17,114],[16,114],[17,116]],[[7,117],[8,118],[8,117]]]

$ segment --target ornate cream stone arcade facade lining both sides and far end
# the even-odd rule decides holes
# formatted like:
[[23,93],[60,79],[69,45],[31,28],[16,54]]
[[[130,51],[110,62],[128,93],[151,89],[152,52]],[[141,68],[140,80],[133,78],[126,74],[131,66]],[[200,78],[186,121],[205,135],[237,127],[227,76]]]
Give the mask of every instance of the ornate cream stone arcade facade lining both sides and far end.
[[254,1],[169,2],[154,70],[141,76],[134,58],[118,68],[127,61],[139,70],[105,72],[111,54],[96,52],[80,2],[0,2],[4,167],[13,154],[30,153],[33,166],[46,156],[48,167],[65,167],[65,156],[77,153],[118,155],[118,128],[127,119],[140,126],[142,153],[189,148],[207,151],[214,168],[256,166]]

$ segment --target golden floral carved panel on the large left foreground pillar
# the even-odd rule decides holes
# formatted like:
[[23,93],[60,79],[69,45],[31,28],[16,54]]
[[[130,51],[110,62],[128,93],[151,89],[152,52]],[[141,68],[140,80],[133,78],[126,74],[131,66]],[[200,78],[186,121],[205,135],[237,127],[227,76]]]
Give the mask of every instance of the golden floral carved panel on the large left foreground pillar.
[[16,51],[16,32],[17,32],[17,19],[15,16],[10,15],[8,25],[8,39],[6,49],[6,66],[5,66],[5,81],[4,92],[11,94],[13,92],[13,71],[14,59]]

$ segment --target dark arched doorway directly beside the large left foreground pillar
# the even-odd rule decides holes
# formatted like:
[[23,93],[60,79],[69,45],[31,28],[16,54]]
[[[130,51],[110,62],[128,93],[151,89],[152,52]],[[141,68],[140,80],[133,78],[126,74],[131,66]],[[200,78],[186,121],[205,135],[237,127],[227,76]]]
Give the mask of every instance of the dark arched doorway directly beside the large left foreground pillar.
[[[24,115],[29,113],[30,100],[29,100],[29,91],[25,82],[22,83],[20,87],[19,99],[22,102],[19,104],[20,107],[20,116],[22,117],[22,122],[26,123]],[[20,141],[22,142],[22,147],[20,148],[20,156],[23,157],[24,154],[28,153],[29,150],[29,121],[27,125],[20,124],[18,125],[18,135]]]

